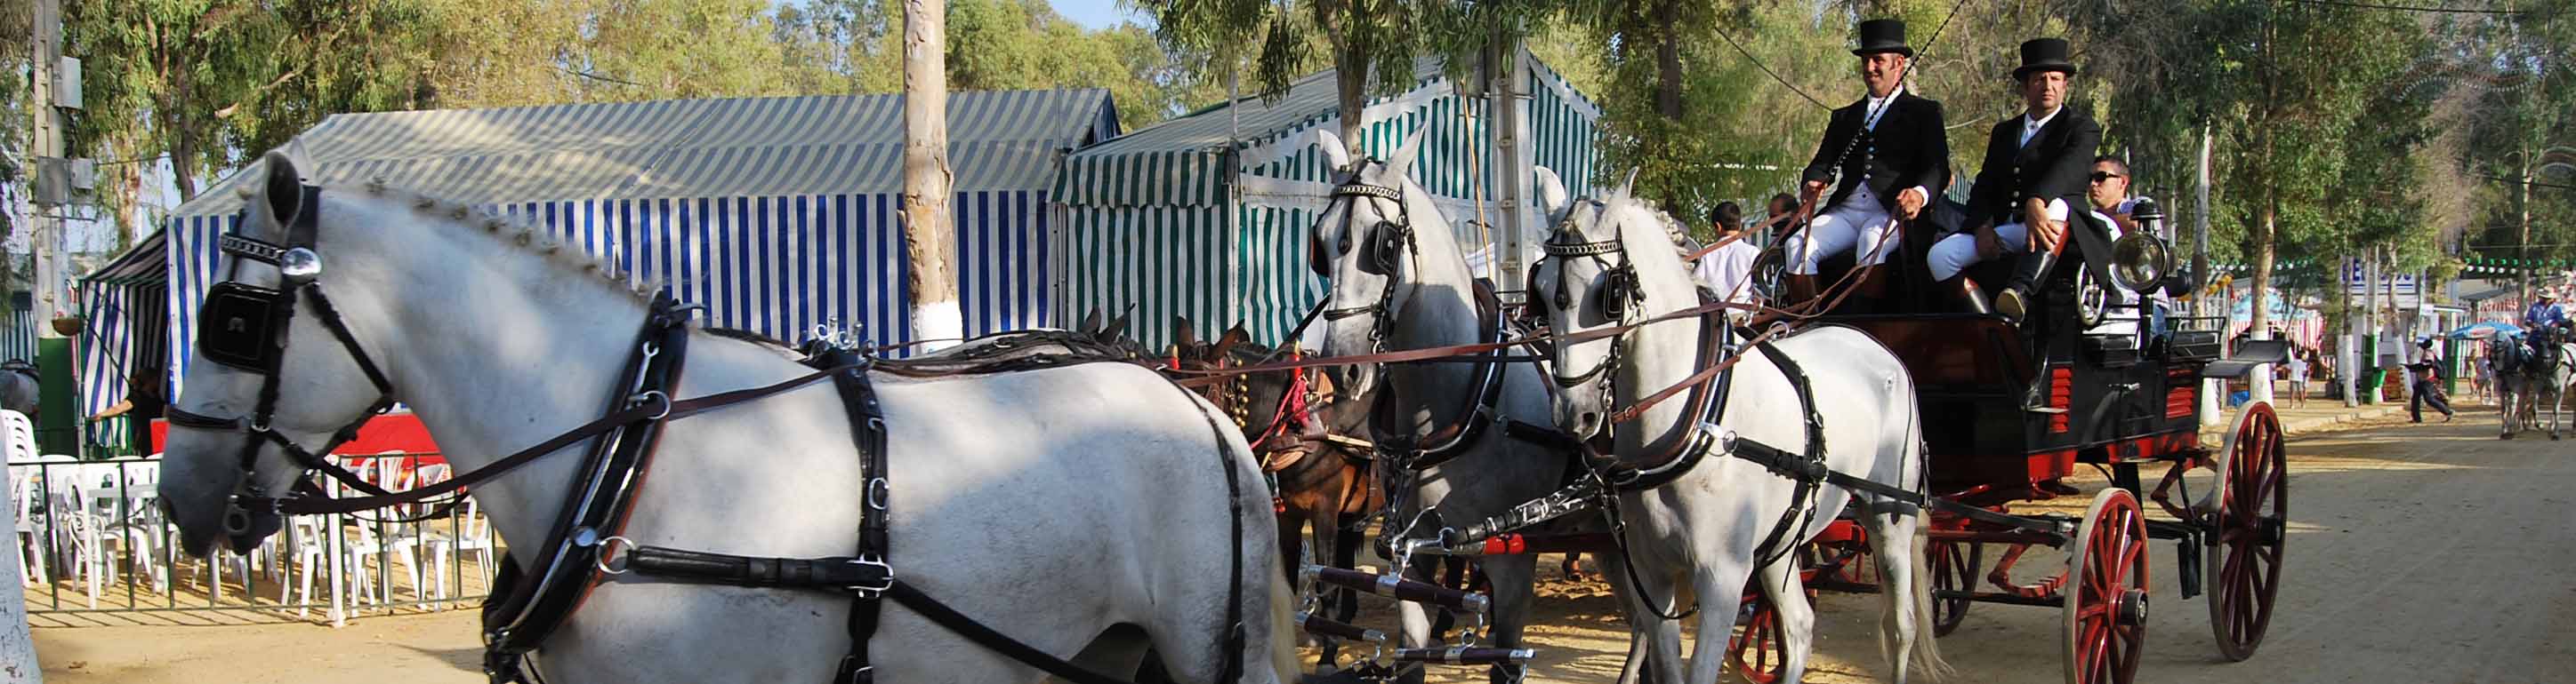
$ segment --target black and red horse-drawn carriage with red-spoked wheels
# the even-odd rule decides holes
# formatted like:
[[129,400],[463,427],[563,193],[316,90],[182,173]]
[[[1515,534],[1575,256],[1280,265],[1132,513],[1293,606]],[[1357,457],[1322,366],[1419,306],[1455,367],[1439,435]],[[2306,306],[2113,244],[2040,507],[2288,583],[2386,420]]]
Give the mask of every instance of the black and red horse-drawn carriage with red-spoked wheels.
[[[2200,283],[2166,275],[2172,249],[2154,237],[2161,221],[2154,203],[2141,203],[2138,219],[2148,229],[2120,242],[2099,224],[2097,234],[2079,229],[2069,249],[2110,257],[2053,273],[2027,324],[1991,314],[1821,319],[1880,339],[1914,375],[1937,496],[1935,630],[1947,635],[1978,602],[2058,607],[2071,684],[2136,676],[2151,604],[2148,540],[2177,540],[2182,599],[2208,594],[2218,653],[2231,661],[2262,645],[2280,591],[2287,519],[2280,419],[2269,404],[2246,404],[2213,450],[2200,442],[2200,391],[2205,378],[2246,378],[2262,363],[2280,363],[2287,347],[2244,342],[2221,357],[2218,319],[2197,316],[2172,316],[2172,329],[2159,332],[2154,296]],[[2195,273],[2208,273],[2205,257]],[[2017,512],[2066,496],[2071,489],[2058,481],[2079,468],[2112,483],[2081,517]],[[1808,586],[1878,591],[1860,563],[1862,540],[1850,519],[1829,527],[1806,550]],[[2032,545],[2066,550],[2066,568],[2017,581],[2014,566]],[[1731,643],[1752,681],[1775,679],[1775,622],[1765,602],[1752,602]]]

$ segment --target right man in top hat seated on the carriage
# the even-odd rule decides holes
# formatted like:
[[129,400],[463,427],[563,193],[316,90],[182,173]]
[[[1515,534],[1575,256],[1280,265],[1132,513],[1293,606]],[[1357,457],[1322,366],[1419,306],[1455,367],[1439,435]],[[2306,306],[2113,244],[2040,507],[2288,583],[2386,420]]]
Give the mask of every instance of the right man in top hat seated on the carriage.
[[1971,311],[1989,311],[1986,291],[1960,270],[2017,255],[2012,283],[1994,298],[1991,311],[2020,321],[2066,247],[2069,208],[2084,206],[2087,170],[2102,141],[2102,126],[2066,108],[2066,80],[2074,75],[2076,64],[2066,62],[2063,39],[2022,44],[2022,67],[2012,69],[2012,77],[2022,85],[2025,111],[1994,123],[1986,136],[1986,165],[1968,193],[1965,229],[1932,244],[1932,280],[1955,288]]

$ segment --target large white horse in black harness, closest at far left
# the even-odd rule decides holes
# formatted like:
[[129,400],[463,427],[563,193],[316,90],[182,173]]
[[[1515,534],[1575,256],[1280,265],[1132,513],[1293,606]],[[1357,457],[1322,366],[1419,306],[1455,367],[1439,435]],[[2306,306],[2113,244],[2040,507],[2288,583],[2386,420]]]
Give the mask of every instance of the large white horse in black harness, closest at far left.
[[[592,419],[613,396],[649,291],[587,262],[544,231],[461,221],[461,206],[374,188],[299,198],[294,165],[268,154],[265,190],[245,193],[240,231],[283,242],[317,213],[314,252],[330,260],[317,288],[348,339],[304,298],[276,334],[283,345],[270,427],[325,445],[379,388],[438,435],[459,473]],[[533,242],[533,247],[531,247]],[[291,260],[289,260],[291,262]],[[224,257],[229,278],[273,288],[281,267]],[[770,386],[809,368],[773,347],[688,329],[677,393]],[[178,409],[247,417],[260,373],[188,368]],[[1038,651],[1100,674],[1133,674],[1146,648],[1180,681],[1216,681],[1226,661],[1226,597],[1242,589],[1242,681],[1296,676],[1288,586],[1278,568],[1260,486],[1229,501],[1226,468],[1260,483],[1242,437],[1211,432],[1213,406],[1126,363],[1048,370],[902,378],[871,373],[886,424],[891,553],[899,581]],[[289,491],[301,476],[263,442],[245,473],[245,432],[173,429],[160,496],[183,548],[204,555],[224,532],[227,496]],[[580,445],[569,447],[580,450]],[[574,491],[580,455],[554,453],[471,496],[510,548],[538,550]],[[853,555],[860,460],[850,414],[829,383],[672,419],[623,537],[739,555]],[[1229,507],[1242,530],[1229,543]],[[260,540],[232,537],[237,550]],[[531,553],[538,555],[538,553]],[[1229,576],[1236,566],[1239,576]],[[520,555],[523,571],[536,571]],[[1242,584],[1234,584],[1242,581]],[[1267,591],[1265,591],[1267,589]],[[850,638],[845,591],[675,584],[605,576],[533,663],[549,681],[827,681]],[[1041,671],[927,622],[899,602],[873,638],[876,681],[1038,681]]]

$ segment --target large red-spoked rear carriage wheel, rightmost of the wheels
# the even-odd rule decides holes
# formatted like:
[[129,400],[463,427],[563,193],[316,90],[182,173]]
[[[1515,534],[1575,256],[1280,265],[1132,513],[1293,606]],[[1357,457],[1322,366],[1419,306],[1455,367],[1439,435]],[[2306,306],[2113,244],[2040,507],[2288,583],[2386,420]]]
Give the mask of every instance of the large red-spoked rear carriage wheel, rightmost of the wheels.
[[2239,419],[2210,525],[2210,633],[2228,661],[2254,656],[2280,594],[2280,550],[2290,519],[2290,450],[2280,437],[2269,404],[2254,404]]

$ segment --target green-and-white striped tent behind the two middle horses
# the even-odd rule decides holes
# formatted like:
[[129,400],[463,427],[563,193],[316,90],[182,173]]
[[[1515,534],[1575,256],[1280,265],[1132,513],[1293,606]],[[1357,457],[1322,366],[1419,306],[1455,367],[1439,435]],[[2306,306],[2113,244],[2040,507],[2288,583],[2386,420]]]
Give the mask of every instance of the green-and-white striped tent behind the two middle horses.
[[[1551,167],[1587,193],[1600,165],[1600,108],[1528,51],[1510,64],[1499,82],[1515,93],[1461,95],[1440,62],[1422,59],[1409,90],[1370,100],[1360,134],[1383,157],[1430,131],[1412,175],[1476,273],[1497,283],[1538,252],[1538,208],[1512,201],[1528,195],[1528,170]],[[1303,229],[1332,193],[1316,131],[1340,121],[1334,72],[1319,72],[1278,100],[1244,98],[1066,157],[1059,309],[1136,309],[1149,345],[1170,342],[1172,316],[1203,329],[1244,321],[1260,342],[1285,337],[1324,296],[1306,270]]]

